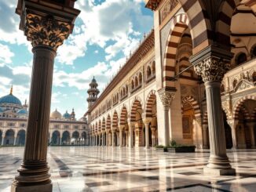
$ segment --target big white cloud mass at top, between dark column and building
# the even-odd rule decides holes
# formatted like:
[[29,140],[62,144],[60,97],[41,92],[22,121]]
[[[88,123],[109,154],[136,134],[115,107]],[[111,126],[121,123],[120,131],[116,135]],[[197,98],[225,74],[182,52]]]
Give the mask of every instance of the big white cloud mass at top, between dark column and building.
[[57,60],[68,65],[74,64],[77,58],[86,56],[88,45],[98,45],[104,49],[106,60],[111,60],[118,53],[128,56],[130,50],[138,45],[140,30],[153,24],[152,16],[141,12],[141,2],[76,2],[76,8],[82,12],[76,20],[74,34],[60,46]]

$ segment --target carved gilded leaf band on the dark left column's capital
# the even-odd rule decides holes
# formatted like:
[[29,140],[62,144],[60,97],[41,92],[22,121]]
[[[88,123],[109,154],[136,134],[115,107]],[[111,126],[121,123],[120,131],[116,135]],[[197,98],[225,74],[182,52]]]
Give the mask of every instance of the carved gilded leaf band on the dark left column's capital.
[[70,27],[70,24],[54,20],[53,16],[44,17],[28,13],[24,33],[33,47],[47,45],[57,50],[64,39],[68,38]]

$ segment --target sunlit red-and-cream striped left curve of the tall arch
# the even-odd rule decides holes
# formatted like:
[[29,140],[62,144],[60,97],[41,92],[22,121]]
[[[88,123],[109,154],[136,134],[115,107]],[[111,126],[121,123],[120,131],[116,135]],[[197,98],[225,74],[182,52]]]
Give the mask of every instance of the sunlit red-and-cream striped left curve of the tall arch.
[[175,76],[177,46],[181,41],[182,34],[188,28],[188,18],[182,13],[172,20],[170,34],[166,44],[163,67],[163,86],[174,87],[172,78]]

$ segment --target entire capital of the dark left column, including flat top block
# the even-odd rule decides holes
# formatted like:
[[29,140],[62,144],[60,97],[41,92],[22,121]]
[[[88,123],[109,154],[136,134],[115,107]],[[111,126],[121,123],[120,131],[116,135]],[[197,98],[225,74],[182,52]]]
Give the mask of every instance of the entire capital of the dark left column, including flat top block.
[[[50,4],[50,5],[49,5]],[[76,16],[80,11],[74,5],[47,5],[42,2],[18,3],[16,13],[20,15],[20,30],[33,47],[49,46],[57,51],[64,39],[72,33]],[[47,10],[47,11],[46,11]]]

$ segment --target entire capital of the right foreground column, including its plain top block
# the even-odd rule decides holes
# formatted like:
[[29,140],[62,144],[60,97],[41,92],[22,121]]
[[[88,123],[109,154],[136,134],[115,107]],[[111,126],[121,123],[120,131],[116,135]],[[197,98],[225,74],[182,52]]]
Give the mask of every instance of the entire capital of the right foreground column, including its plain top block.
[[224,74],[229,71],[232,56],[229,50],[210,45],[192,56],[190,62],[193,63],[196,74],[203,78],[203,82],[221,82]]

